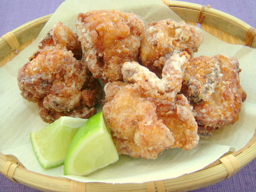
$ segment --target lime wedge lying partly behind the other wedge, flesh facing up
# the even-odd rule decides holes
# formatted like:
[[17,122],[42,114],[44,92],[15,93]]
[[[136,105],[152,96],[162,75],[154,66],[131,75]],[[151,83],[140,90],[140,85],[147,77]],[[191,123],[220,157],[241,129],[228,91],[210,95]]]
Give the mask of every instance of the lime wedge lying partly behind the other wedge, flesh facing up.
[[38,132],[30,133],[30,141],[38,162],[44,168],[64,164],[68,146],[87,119],[60,117]]

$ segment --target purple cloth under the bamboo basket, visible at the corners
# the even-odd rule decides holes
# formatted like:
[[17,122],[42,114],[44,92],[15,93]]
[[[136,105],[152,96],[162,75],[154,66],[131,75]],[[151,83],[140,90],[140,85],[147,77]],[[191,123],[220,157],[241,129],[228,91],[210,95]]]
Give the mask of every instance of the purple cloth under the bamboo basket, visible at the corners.
[[[255,0],[184,0],[226,12],[256,28]],[[64,0],[1,0],[0,37],[33,19],[54,13]],[[193,192],[256,192],[256,159],[229,179]],[[0,192],[38,192],[23,184],[17,184],[0,174]]]

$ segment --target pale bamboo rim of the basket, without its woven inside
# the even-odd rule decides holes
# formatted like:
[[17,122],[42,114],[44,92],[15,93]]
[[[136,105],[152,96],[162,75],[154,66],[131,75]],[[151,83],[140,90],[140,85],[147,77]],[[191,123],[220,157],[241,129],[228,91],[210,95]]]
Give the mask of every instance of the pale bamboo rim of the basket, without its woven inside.
[[[162,1],[165,2],[166,5],[169,5],[169,8],[171,8],[176,13],[184,10],[192,10],[196,11],[197,15],[199,15],[199,13],[202,12],[202,5],[199,4],[174,0]],[[247,34],[248,30],[252,28],[250,25],[241,21],[240,19],[237,19],[232,15],[226,14],[216,9],[206,8],[203,10],[203,14],[225,19],[226,21],[232,23],[232,25],[241,28],[245,34]],[[12,30],[11,33],[17,37],[19,44],[22,45],[24,42],[19,39],[19,35],[37,26],[42,28],[42,26],[44,26],[44,24],[49,20],[51,15],[53,14],[34,19]],[[179,14],[177,13],[177,15]],[[207,21],[207,16],[204,20],[204,23],[211,26],[212,23],[211,21]],[[182,18],[182,16],[180,17]],[[184,20],[186,19],[184,18]],[[35,35],[37,36],[37,34]],[[246,41],[246,36],[247,35],[243,35],[239,38],[243,42]],[[252,36],[255,37],[256,34],[252,34]],[[252,38],[251,45],[252,47],[256,47],[256,38]],[[3,38],[0,38],[0,49],[3,48],[6,49],[4,56],[14,51]],[[2,59],[3,56],[0,55],[0,60]],[[254,134],[250,142],[242,149],[230,154],[226,154],[222,158],[219,158],[217,161],[211,163],[209,166],[201,170],[198,170],[194,173],[185,174],[177,178],[150,181],[141,184],[82,183],[67,178],[48,176],[25,169],[17,158],[11,155],[4,155],[1,152],[0,173],[4,174],[14,182],[19,182],[21,184],[25,184],[32,188],[37,188],[43,191],[186,191],[206,187],[225,180],[226,178],[231,177],[237,173],[238,170],[246,166],[254,158],[256,158],[256,134]],[[211,177],[206,177],[209,175]],[[34,181],[38,181],[38,183],[34,183]]]

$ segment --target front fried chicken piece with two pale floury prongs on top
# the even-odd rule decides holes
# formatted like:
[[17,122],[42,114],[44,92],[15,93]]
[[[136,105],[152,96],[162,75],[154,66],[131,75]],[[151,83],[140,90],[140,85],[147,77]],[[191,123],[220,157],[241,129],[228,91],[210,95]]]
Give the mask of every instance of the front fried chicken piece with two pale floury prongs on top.
[[[184,95],[177,95],[182,82],[179,68],[188,60],[187,56],[178,58],[177,54],[166,62],[163,70],[166,79],[158,79],[136,62],[126,62],[122,72],[127,82],[105,85],[102,112],[120,154],[155,159],[167,148],[190,150],[197,146],[199,136],[192,108]],[[176,71],[173,73],[172,69]],[[173,83],[169,78],[179,79],[179,76],[180,86],[169,86]],[[162,90],[165,86],[166,90]]]

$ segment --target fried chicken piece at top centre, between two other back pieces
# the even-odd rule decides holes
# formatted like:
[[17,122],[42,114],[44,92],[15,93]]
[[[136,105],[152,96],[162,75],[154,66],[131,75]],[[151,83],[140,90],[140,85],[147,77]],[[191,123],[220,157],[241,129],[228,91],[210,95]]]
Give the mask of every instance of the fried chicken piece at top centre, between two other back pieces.
[[76,26],[94,77],[103,83],[122,80],[123,63],[137,61],[143,21],[133,13],[96,10],[80,13]]

